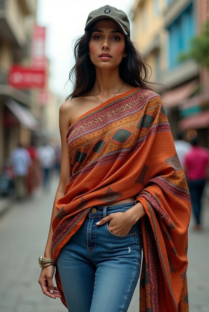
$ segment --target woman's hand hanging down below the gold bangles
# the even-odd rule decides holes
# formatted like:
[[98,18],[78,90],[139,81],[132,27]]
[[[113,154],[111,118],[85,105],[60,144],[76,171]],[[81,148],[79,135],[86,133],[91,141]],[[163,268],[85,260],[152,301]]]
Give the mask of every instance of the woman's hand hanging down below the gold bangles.
[[41,274],[39,277],[39,284],[41,285],[41,289],[44,295],[56,299],[61,298],[58,288],[54,287],[53,285],[53,278],[54,275],[54,265],[47,266],[46,268],[41,269]]

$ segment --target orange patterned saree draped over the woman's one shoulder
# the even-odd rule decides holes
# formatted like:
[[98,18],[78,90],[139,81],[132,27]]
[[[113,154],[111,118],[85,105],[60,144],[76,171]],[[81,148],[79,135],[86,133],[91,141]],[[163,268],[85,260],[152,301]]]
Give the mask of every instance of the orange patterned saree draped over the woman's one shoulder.
[[[188,312],[190,197],[160,95],[133,87],[67,132],[70,179],[53,219],[53,260],[95,205],[136,196],[142,229],[140,312]],[[67,307],[59,272],[55,279]],[[69,308],[69,307],[68,307]]]

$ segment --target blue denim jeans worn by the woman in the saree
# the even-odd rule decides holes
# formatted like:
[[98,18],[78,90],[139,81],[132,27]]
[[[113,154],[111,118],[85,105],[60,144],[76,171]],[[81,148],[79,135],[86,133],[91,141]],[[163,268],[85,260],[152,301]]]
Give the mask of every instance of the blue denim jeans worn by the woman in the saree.
[[96,222],[125,212],[135,201],[94,206],[61,249],[57,266],[69,312],[126,312],[140,276],[142,244],[137,221],[127,235]]

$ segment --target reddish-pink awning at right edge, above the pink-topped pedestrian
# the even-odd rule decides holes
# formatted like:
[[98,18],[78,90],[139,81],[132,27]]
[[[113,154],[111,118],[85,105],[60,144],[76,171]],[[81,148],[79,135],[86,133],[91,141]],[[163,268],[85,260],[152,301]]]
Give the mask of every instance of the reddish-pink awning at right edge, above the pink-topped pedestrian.
[[202,129],[209,127],[209,110],[188,116],[179,121],[180,130]]

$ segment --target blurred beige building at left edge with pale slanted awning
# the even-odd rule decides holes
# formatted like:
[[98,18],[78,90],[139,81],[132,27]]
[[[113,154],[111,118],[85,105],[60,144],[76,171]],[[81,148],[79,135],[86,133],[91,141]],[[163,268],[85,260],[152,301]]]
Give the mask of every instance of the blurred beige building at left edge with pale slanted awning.
[[30,143],[37,121],[30,113],[31,92],[8,85],[13,64],[30,63],[36,0],[0,0],[0,172],[19,142]]

